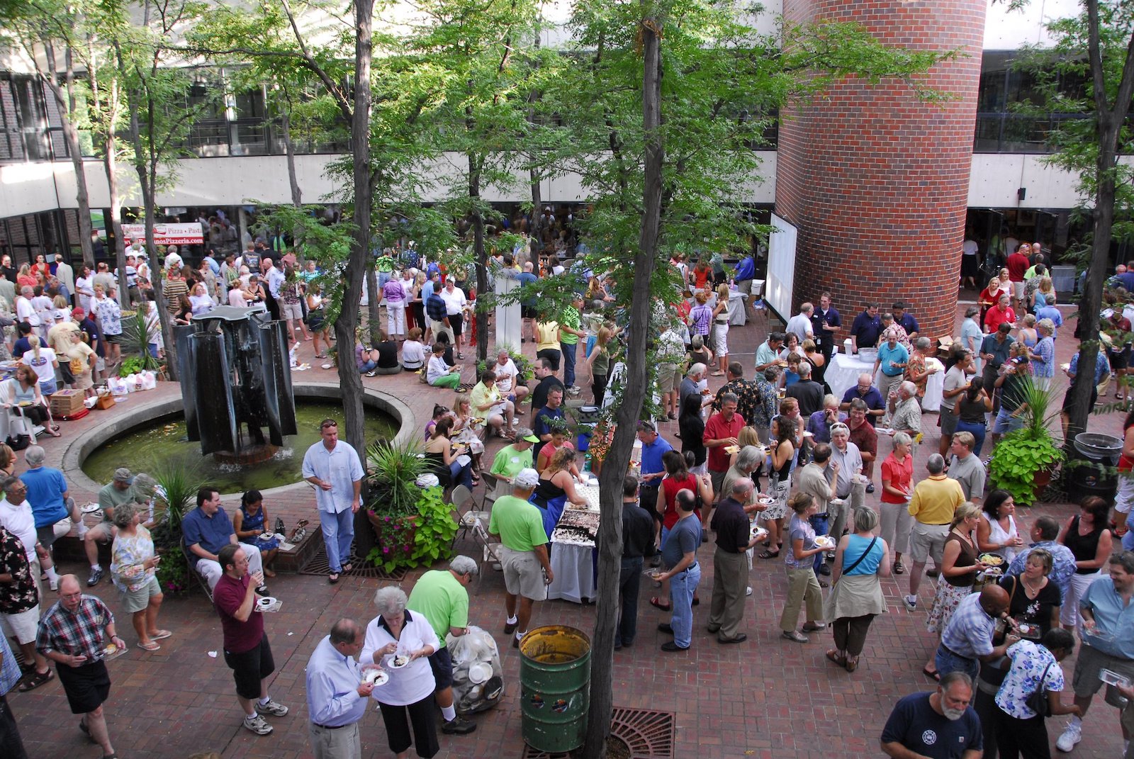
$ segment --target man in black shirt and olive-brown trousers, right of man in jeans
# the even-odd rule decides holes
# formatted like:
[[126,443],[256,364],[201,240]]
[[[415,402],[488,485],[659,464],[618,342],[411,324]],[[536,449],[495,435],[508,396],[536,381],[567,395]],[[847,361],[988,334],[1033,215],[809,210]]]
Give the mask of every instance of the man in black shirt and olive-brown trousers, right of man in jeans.
[[752,538],[744,504],[748,503],[754,487],[747,478],[735,480],[733,492],[717,504],[712,517],[712,529],[717,531],[717,550],[712,556],[709,632],[717,633],[719,643],[739,643],[748,638],[739,631],[748,579],[748,560],[744,554],[756,541]]

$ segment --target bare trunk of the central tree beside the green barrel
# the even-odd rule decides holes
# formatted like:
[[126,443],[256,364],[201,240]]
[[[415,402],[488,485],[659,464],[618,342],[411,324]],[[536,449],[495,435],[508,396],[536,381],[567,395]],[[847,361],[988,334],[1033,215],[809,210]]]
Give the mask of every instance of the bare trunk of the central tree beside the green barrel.
[[[643,6],[644,7],[644,6]],[[631,301],[629,343],[626,347],[626,386],[615,414],[617,429],[602,471],[608,477],[600,486],[601,516],[599,524],[599,604],[591,636],[591,707],[587,712],[586,742],[583,759],[601,759],[610,733],[613,710],[615,625],[618,621],[618,575],[623,554],[621,478],[629,463],[642,402],[646,393],[646,339],[652,307],[650,278],[658,259],[658,235],[661,226],[661,171],[666,150],[661,125],[661,48],[660,24],[642,22],[642,113],[645,133],[645,184],[643,189],[642,233],[634,254],[634,290]],[[611,477],[613,475],[613,477]]]

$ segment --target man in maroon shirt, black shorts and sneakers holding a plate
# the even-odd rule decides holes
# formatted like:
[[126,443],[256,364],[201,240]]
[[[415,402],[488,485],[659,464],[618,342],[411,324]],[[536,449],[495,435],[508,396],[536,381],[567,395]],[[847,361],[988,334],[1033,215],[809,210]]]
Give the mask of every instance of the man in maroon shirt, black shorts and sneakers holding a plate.
[[264,616],[256,608],[256,588],[264,577],[259,572],[248,575],[248,557],[239,543],[225,546],[217,558],[223,574],[213,589],[213,606],[225,633],[225,664],[236,681],[244,726],[256,735],[268,735],[272,726],[261,715],[282,717],[288,708],[268,695],[266,678],[276,671],[276,661],[264,634]]

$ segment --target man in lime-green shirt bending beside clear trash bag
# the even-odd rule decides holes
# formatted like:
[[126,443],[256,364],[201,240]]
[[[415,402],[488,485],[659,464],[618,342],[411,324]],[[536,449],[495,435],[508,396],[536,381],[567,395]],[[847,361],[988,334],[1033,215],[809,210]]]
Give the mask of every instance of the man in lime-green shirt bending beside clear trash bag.
[[409,592],[407,608],[425,615],[439,641],[438,649],[429,655],[437,690],[433,698],[445,722],[441,732],[447,735],[466,735],[476,725],[457,716],[452,706],[452,658],[445,636],[460,636],[468,632],[468,583],[480,574],[481,567],[467,556],[454,556],[448,570],[430,570],[421,576]]

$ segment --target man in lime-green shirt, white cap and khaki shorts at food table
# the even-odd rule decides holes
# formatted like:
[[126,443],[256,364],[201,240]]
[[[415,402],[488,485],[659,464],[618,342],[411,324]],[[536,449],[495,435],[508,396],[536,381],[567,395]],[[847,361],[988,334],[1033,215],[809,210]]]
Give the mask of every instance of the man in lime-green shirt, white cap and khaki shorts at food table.
[[521,639],[527,634],[532,604],[547,599],[548,585],[553,579],[543,516],[538,507],[527,503],[539,483],[540,475],[534,469],[522,469],[511,481],[511,495],[497,498],[489,517],[489,534],[500,538],[503,605],[508,614],[503,633],[515,633],[513,648],[519,648]]

